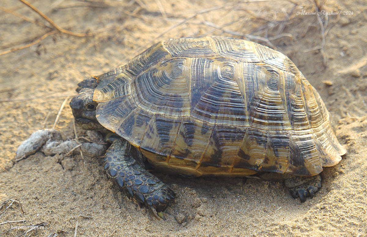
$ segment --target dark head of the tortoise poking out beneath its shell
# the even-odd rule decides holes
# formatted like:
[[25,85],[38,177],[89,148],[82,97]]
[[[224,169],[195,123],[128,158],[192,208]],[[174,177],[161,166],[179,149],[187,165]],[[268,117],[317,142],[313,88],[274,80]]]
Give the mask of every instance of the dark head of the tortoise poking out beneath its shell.
[[94,89],[83,88],[70,101],[76,124],[85,130],[104,129],[95,117],[98,103],[93,101],[93,91]]

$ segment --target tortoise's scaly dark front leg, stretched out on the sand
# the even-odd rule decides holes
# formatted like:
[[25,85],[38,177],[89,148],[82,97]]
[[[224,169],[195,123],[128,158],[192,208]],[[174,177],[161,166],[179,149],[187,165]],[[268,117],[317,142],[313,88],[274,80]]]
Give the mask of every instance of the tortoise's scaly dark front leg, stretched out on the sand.
[[146,171],[137,159],[141,160],[141,154],[130,143],[116,140],[106,152],[105,173],[128,198],[134,198],[139,205],[145,204],[156,217],[164,219],[163,211],[175,198],[175,193]]

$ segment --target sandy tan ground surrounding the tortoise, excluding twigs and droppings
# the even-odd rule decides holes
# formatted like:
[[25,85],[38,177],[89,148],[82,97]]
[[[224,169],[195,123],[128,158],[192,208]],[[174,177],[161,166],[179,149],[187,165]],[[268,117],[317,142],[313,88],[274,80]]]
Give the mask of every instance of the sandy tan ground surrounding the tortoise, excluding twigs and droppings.
[[[88,36],[50,34],[0,56],[0,202],[17,198],[24,211],[14,203],[0,223],[26,220],[1,224],[0,233],[49,221],[33,236],[74,236],[76,225],[76,236],[366,236],[367,8],[364,0],[317,1],[319,11],[338,12],[320,16],[322,30],[316,15],[306,15],[316,11],[313,1],[301,2],[33,0],[56,25]],[[36,25],[51,26],[20,1],[1,5],[34,23],[0,12],[0,53],[53,30]],[[167,220],[157,221],[113,187],[101,158],[38,152],[13,161],[31,133],[52,127],[78,82],[126,63],[154,42],[201,35],[267,38],[257,41],[289,56],[320,92],[347,154],[324,170],[315,198],[300,204],[279,182],[156,173],[178,195]],[[64,139],[74,138],[69,106],[55,128]]]

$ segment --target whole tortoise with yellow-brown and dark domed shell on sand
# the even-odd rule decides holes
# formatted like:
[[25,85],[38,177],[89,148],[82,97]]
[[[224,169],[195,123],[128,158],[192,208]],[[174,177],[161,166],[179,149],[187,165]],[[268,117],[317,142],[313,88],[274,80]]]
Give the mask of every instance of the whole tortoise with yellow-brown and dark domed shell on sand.
[[290,188],[304,202],[321,187],[323,167],[346,153],[316,89],[287,56],[255,42],[169,39],[78,85],[76,123],[119,136],[106,175],[156,217],[175,193],[145,160],[184,176],[310,176]]

